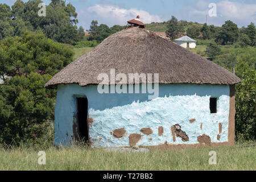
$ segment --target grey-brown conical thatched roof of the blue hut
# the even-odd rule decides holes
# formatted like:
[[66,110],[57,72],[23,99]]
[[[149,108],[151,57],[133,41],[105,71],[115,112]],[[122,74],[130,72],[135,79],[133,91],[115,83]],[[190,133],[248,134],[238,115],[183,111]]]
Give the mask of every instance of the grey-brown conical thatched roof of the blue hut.
[[[76,83],[99,84],[100,73],[159,73],[159,84],[195,83],[233,85],[233,73],[144,28],[119,31],[82,55],[47,82],[46,87]],[[116,84],[118,81],[115,82]]]

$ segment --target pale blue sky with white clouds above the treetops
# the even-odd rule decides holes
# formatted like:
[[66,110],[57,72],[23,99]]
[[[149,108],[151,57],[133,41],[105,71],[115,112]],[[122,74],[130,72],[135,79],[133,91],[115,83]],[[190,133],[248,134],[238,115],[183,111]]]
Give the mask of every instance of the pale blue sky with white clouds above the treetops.
[[[0,0],[11,6],[16,0]],[[23,0],[26,2],[27,0]],[[43,0],[48,5],[50,0]],[[76,8],[79,24],[89,29],[92,20],[107,24],[125,25],[127,20],[140,16],[143,23],[164,22],[174,15],[178,20],[221,26],[232,20],[238,27],[256,24],[256,0],[68,0]],[[216,5],[216,16],[209,16]],[[47,12],[46,12],[47,13]]]

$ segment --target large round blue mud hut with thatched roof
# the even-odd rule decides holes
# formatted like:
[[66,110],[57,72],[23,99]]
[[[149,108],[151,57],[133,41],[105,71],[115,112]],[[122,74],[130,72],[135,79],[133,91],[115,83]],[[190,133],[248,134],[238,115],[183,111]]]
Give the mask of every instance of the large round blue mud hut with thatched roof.
[[55,145],[234,143],[240,78],[141,27],[119,31],[47,82],[57,88]]

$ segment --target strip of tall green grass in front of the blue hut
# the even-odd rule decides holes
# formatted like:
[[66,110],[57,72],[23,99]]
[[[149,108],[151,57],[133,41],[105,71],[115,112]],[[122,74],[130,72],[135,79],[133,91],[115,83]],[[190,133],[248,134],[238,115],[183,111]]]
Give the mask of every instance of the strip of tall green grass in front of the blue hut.
[[[46,165],[38,164],[38,152],[46,151]],[[217,164],[209,165],[209,151],[217,152]],[[255,143],[148,153],[109,152],[86,147],[0,147],[0,170],[255,170]]]

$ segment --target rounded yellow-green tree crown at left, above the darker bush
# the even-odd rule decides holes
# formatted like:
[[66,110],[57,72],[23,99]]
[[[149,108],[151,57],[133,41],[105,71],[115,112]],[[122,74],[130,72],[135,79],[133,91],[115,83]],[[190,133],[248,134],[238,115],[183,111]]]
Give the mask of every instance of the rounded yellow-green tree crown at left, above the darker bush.
[[[72,61],[73,52],[47,39],[42,33],[24,31],[21,37],[6,38],[0,42],[0,73],[7,76],[28,75],[31,72],[55,75]],[[6,59],[7,57],[7,59]]]

